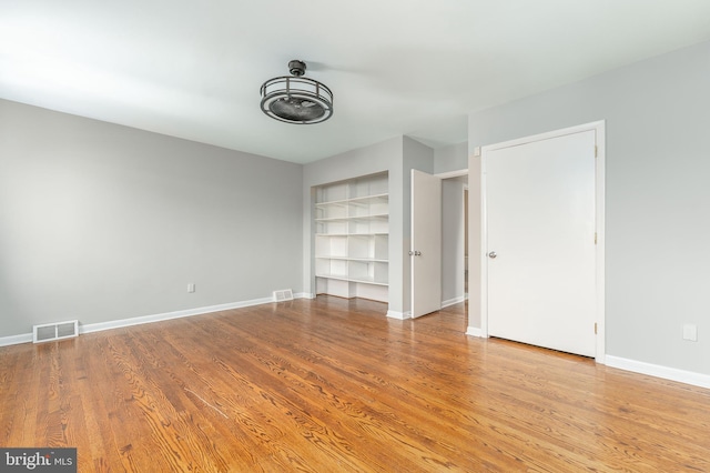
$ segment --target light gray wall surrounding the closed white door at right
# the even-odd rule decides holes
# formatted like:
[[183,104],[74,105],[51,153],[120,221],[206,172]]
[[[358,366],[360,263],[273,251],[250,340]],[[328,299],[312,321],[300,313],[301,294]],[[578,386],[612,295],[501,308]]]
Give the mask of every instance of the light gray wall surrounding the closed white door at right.
[[[607,353],[703,374],[710,374],[708,84],[706,42],[469,115],[471,151],[606,120]],[[471,178],[477,167],[471,159]],[[469,304],[469,325],[479,326],[477,305]],[[682,340],[683,323],[698,325],[698,342]]]

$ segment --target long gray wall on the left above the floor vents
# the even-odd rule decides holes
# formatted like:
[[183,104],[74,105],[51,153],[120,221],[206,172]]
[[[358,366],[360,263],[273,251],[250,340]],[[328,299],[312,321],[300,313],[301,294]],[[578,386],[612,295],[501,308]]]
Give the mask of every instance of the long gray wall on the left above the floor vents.
[[297,164],[0,101],[0,336],[301,292],[301,185]]

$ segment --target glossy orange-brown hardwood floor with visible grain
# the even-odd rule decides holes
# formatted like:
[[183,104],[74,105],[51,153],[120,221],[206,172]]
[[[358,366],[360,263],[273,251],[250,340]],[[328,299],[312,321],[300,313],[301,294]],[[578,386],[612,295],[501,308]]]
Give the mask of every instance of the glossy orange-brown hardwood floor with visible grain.
[[0,446],[79,471],[710,471],[710,391],[320,296],[0,348]]

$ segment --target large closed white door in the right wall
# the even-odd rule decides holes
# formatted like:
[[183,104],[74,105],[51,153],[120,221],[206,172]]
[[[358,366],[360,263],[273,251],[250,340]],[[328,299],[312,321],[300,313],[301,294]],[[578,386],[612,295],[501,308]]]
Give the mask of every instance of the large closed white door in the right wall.
[[596,131],[484,151],[488,334],[596,354]]

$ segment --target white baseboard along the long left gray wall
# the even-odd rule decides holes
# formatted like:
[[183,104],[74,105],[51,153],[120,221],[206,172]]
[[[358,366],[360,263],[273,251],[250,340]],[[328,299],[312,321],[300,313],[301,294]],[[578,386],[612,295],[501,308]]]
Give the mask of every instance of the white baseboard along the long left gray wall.
[[[294,294],[294,299],[313,299],[312,296],[310,298],[310,295],[312,294],[300,292],[297,294]],[[207,305],[204,308],[186,309],[183,311],[175,311],[175,312],[165,312],[162,314],[111,320],[109,322],[90,323],[87,325],[80,324],[79,333],[82,334],[82,333],[100,332],[103,330],[119,329],[122,326],[161,322],[164,320],[181,319],[184,316],[201,315],[201,314],[207,314],[211,312],[227,311],[230,309],[248,308],[252,305],[261,305],[261,304],[268,304],[268,303],[275,303],[273,298],[252,299],[250,301],[231,302],[227,304]],[[27,343],[31,341],[32,341],[31,333],[23,333],[20,335],[10,335],[10,336],[0,336],[0,346],[17,345],[20,343]]]

